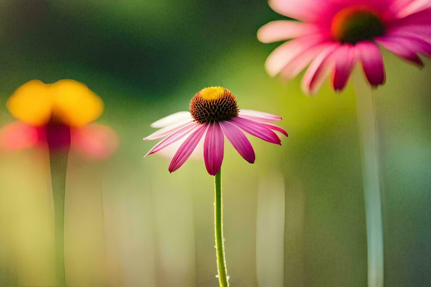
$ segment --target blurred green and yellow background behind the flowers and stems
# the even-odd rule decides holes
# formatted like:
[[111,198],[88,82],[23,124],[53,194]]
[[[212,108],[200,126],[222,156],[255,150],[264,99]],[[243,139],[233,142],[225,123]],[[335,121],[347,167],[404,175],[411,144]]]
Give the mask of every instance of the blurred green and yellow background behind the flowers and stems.
[[[22,83],[71,78],[106,105],[99,123],[119,150],[94,162],[73,152],[66,186],[69,286],[218,286],[213,178],[199,160],[170,174],[142,157],[150,123],[187,110],[206,86],[240,107],[278,114],[282,146],[251,138],[256,163],[226,145],[224,229],[231,286],[366,286],[361,150],[353,80],[314,98],[300,78],[265,74],[278,46],[257,29],[283,19],[266,1],[0,2],[0,125]],[[386,286],[431,285],[431,61],[384,52],[373,90],[383,184]],[[360,80],[360,79],[359,79]],[[0,286],[55,285],[47,151],[0,153]]]

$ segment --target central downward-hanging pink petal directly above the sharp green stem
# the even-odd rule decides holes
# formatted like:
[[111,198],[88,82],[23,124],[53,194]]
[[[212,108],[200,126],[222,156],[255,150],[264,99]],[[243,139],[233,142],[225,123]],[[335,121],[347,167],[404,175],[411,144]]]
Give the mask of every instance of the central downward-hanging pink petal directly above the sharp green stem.
[[215,176],[223,162],[225,136],[218,122],[210,123],[203,143],[203,159],[208,173]]

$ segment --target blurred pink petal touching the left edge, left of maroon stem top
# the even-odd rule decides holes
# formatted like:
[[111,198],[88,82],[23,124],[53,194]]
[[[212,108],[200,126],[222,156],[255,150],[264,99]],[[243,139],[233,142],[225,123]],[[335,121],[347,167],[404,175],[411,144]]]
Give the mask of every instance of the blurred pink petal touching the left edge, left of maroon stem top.
[[44,129],[19,121],[6,124],[0,130],[0,147],[22,149],[37,145],[44,138]]

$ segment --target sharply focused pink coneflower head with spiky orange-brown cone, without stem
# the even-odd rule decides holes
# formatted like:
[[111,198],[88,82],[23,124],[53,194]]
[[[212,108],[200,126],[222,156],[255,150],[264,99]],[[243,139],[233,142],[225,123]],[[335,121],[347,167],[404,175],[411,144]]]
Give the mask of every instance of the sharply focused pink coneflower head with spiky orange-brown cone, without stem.
[[189,111],[171,114],[151,124],[151,127],[161,129],[144,140],[166,138],[145,156],[185,137],[169,165],[169,172],[172,173],[184,164],[200,140],[204,139],[203,157],[206,170],[215,176],[222,166],[225,136],[238,153],[253,164],[253,147],[241,130],[266,142],[281,145],[280,138],[272,130],[288,135],[284,129],[271,123],[276,120],[281,120],[281,117],[259,111],[240,110],[237,99],[228,89],[205,88],[191,99]]

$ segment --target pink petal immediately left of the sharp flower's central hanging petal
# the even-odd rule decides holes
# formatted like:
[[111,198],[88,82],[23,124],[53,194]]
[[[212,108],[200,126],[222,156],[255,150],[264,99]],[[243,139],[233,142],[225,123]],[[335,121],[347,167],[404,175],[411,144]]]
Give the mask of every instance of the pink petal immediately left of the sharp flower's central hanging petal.
[[196,130],[183,142],[180,148],[178,148],[178,151],[172,158],[171,164],[169,164],[170,173],[178,170],[185,163],[208,127],[209,125],[207,124],[202,124],[197,127]]

